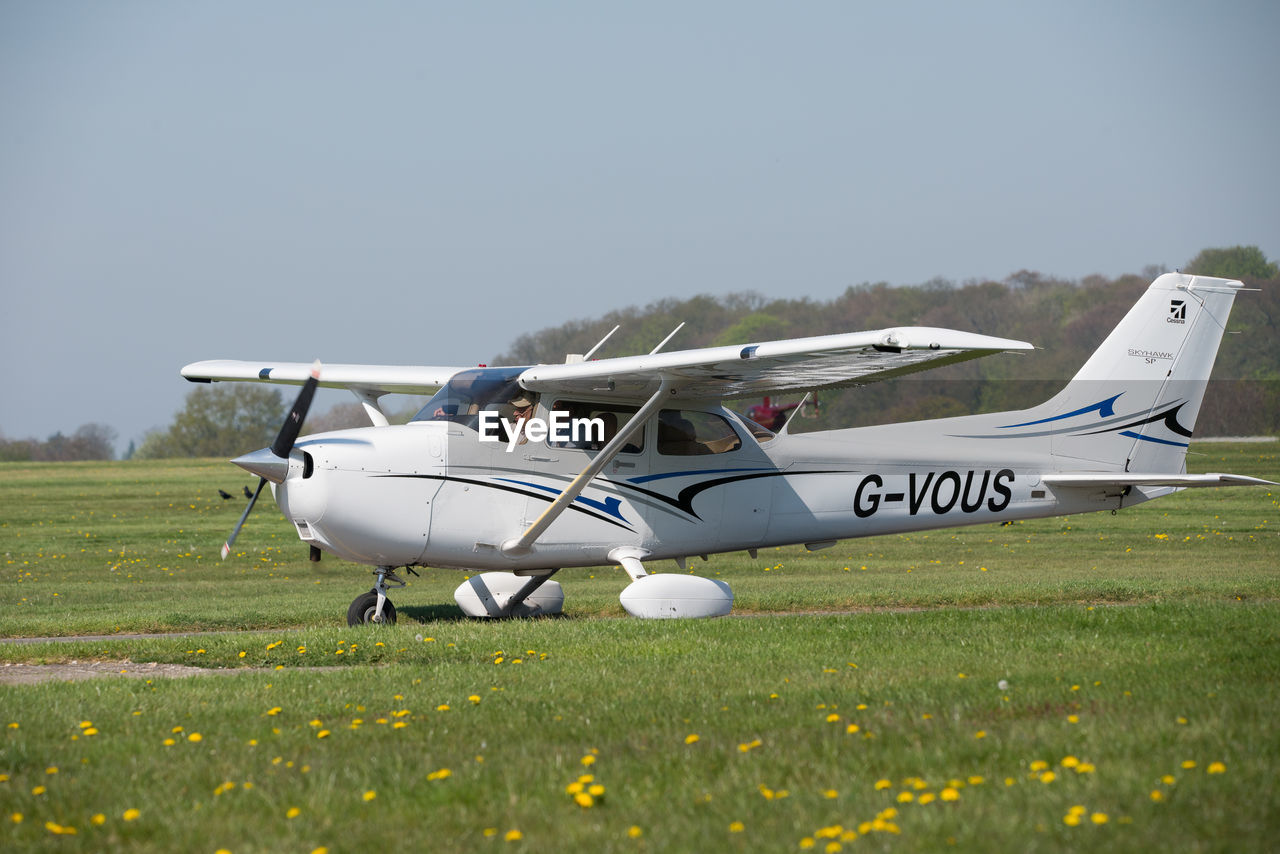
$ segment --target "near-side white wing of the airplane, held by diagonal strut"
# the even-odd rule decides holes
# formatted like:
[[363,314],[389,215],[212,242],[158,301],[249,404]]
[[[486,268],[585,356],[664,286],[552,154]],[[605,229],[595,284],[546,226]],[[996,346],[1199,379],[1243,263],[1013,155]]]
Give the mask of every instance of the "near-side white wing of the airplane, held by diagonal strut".
[[677,398],[733,398],[864,385],[1019,350],[1034,347],[1024,341],[955,329],[902,326],[571,365],[538,365],[520,375],[520,384],[543,393],[612,392],[648,398],[666,379]]

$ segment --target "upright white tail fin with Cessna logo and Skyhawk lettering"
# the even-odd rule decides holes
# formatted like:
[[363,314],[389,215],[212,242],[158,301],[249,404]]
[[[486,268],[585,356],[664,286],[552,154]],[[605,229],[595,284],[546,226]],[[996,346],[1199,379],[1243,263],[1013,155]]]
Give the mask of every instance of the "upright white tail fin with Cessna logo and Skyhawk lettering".
[[1075,378],[1027,411],[1019,435],[1050,438],[1073,467],[1174,474],[1199,414],[1236,292],[1230,279],[1166,273]]

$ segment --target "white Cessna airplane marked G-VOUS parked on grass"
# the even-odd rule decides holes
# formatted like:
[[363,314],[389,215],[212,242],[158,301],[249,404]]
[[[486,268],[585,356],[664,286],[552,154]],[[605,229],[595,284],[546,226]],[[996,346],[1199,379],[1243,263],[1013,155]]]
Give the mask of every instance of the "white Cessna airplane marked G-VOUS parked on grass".
[[[233,460],[261,478],[312,557],[375,567],[351,625],[394,622],[398,567],[480,574],[470,616],[557,613],[548,579],[621,565],[640,617],[728,613],[722,581],[646,563],[716,552],[1119,510],[1190,487],[1270,484],[1187,474],[1187,447],[1240,282],[1157,278],[1075,378],[1028,410],[773,433],[723,401],[892,379],[1020,341],[895,328],[525,367],[202,361],[192,382],[302,384],[270,448]],[[612,334],[612,333],[611,333]],[[608,337],[605,337],[608,338]],[[668,337],[669,339],[669,337]],[[604,343],[603,341],[600,342]],[[663,342],[666,343],[666,342]],[[349,389],[372,426],[298,440],[317,385]],[[388,425],[388,393],[434,397]]]

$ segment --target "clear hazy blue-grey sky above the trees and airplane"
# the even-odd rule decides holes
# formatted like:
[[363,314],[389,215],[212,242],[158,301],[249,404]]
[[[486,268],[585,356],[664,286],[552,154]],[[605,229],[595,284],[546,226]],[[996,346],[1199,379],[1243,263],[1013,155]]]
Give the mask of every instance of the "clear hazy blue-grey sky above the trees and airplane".
[[1277,41],[1274,0],[0,0],[0,431],[123,449],[200,359],[1275,259]]

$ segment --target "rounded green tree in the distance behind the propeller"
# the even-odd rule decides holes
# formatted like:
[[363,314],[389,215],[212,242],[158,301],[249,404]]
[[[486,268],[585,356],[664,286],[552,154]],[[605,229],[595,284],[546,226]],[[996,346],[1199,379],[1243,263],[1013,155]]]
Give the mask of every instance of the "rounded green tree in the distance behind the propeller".
[[147,434],[134,456],[233,457],[271,443],[284,420],[280,393],[262,385],[201,385],[166,430]]

